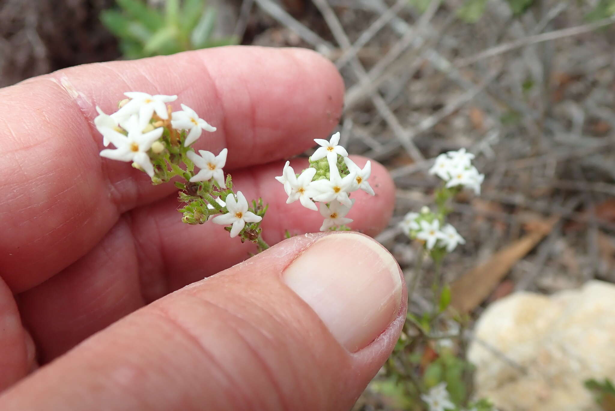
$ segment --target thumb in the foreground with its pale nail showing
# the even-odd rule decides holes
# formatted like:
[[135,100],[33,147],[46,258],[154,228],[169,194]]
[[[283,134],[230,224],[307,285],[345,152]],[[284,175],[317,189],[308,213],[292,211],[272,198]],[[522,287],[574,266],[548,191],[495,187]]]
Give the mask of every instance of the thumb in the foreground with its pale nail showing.
[[399,266],[377,242],[293,237],[93,335],[0,409],[349,409],[405,311]]

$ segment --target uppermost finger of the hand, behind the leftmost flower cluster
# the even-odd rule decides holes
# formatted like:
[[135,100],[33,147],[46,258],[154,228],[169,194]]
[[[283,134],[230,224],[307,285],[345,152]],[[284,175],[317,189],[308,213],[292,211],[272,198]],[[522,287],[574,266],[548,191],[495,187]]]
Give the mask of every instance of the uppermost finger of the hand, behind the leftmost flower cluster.
[[95,106],[126,91],[177,94],[218,131],[196,148],[229,149],[228,169],[284,158],[327,135],[343,83],[301,49],[222,47],[58,71],[0,90],[0,273],[13,292],[84,255],[122,212],[174,191],[100,158]]

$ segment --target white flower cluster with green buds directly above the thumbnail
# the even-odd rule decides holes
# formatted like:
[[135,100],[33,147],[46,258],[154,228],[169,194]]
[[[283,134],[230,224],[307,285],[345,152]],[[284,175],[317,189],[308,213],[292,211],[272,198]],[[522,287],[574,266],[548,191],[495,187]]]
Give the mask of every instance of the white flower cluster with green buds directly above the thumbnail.
[[[299,200],[307,209],[319,211],[324,218],[320,231],[344,229],[353,220],[346,215],[354,200],[353,191],[363,190],[371,196],[374,190],[368,183],[371,162],[361,168],[348,158],[348,153],[339,143],[339,133],[329,141],[315,138],[320,147],[309,158],[309,167],[296,174],[287,161],[282,175],[276,180],[284,185],[288,195],[287,204]],[[319,207],[315,202],[320,202]]]

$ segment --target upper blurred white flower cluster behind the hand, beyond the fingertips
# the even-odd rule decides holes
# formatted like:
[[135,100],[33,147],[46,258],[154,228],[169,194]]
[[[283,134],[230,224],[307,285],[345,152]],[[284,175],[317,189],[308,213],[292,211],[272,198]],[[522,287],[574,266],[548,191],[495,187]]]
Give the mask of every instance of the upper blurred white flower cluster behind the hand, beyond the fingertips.
[[485,180],[485,175],[478,173],[472,166],[474,154],[467,153],[465,148],[459,151],[449,151],[440,154],[435,159],[434,166],[429,169],[429,174],[435,174],[446,182],[446,188],[468,187],[480,194],[480,185]]

